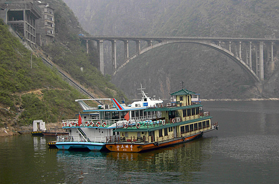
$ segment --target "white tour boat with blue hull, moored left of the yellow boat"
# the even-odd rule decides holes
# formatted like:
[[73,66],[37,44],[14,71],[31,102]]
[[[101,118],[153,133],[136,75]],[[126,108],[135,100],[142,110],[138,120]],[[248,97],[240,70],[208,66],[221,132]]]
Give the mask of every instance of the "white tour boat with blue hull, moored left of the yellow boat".
[[[106,104],[91,107],[85,103],[92,100],[102,100]],[[78,119],[62,120],[62,128],[67,129],[69,135],[57,136],[55,146],[58,149],[102,151],[106,149],[106,143],[120,140],[120,133],[114,131],[116,127],[135,126],[135,122],[156,120],[158,116],[157,112],[144,113],[146,106],[126,106],[114,98],[75,101],[83,108],[83,112],[78,114]]]

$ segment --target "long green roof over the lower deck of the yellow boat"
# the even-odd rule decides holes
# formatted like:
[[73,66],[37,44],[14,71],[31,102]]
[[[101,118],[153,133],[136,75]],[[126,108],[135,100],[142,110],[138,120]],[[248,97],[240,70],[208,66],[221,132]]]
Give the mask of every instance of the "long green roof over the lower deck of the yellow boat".
[[208,116],[208,117],[202,117],[199,119],[193,119],[193,120],[188,120],[188,121],[183,121],[183,122],[178,122],[178,123],[170,123],[170,124],[155,126],[155,127],[150,125],[151,128],[147,128],[147,127],[146,128],[116,128],[113,131],[114,132],[150,132],[150,131],[155,131],[155,130],[159,130],[159,129],[163,129],[163,128],[174,127],[177,125],[179,126],[179,125],[183,125],[183,124],[193,123],[196,121],[208,120],[211,118],[213,118],[213,117]]

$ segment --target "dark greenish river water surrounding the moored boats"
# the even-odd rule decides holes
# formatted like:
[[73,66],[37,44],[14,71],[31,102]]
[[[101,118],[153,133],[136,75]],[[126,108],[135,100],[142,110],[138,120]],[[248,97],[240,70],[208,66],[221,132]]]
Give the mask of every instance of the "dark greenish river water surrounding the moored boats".
[[0,183],[278,183],[279,102],[204,102],[219,129],[144,153],[61,151],[0,137]]

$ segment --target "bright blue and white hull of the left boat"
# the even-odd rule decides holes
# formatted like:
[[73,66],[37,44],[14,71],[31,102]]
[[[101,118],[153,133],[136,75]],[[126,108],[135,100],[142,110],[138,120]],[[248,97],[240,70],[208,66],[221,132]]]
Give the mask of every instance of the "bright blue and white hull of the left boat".
[[106,149],[105,143],[57,142],[55,146],[61,150],[88,148],[91,151],[101,151]]

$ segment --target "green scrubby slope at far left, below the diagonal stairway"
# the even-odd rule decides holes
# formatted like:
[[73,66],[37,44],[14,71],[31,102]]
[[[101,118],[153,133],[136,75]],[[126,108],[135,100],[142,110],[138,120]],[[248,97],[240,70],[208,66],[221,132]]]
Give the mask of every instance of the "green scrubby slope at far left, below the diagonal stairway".
[[0,19],[0,126],[56,123],[80,111],[74,99],[85,98],[23,47]]

